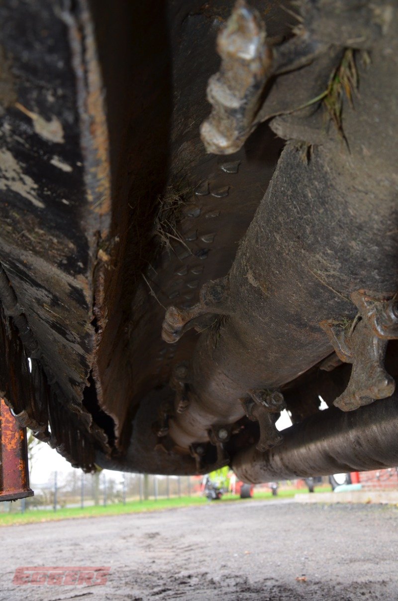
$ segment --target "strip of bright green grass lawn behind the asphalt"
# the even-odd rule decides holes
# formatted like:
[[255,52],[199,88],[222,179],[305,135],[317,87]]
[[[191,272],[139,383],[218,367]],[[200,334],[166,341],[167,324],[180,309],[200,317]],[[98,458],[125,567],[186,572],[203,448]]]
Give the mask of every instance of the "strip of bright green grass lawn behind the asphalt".
[[[329,490],[325,487],[316,487],[315,492]],[[307,492],[307,489],[280,490],[277,497],[273,497],[271,492],[264,490],[255,490],[253,499],[275,499],[294,497],[297,493]],[[245,499],[250,502],[250,499]],[[204,505],[208,501],[203,496],[181,496],[171,499],[149,499],[148,501],[129,501],[125,505],[122,503],[112,503],[106,505],[97,505],[95,507],[63,508],[57,511],[31,509],[25,513],[0,513],[0,526],[9,526],[16,524],[26,524],[35,522],[50,522],[53,520],[64,520],[76,517],[97,517],[97,516],[117,516],[123,513],[142,513],[143,511],[161,511],[175,507],[188,507],[189,505]],[[217,503],[223,502],[242,502],[237,495],[227,493]]]

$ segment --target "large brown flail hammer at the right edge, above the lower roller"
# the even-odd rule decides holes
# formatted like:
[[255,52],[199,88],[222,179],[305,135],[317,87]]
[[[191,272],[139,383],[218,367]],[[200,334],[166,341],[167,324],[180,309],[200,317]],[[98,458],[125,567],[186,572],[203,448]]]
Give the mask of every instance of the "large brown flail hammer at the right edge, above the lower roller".
[[390,397],[395,380],[384,367],[388,340],[398,338],[398,302],[391,294],[358,290],[351,294],[360,318],[350,323],[325,320],[326,332],[337,356],[352,363],[349,384],[334,405],[352,411],[375,399]]

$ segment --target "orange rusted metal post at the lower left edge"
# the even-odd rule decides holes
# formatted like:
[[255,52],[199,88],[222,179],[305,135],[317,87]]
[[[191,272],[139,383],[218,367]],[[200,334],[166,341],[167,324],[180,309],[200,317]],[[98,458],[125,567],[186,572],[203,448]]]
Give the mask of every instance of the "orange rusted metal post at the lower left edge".
[[0,398],[0,501],[32,496],[29,488],[26,428],[21,428]]

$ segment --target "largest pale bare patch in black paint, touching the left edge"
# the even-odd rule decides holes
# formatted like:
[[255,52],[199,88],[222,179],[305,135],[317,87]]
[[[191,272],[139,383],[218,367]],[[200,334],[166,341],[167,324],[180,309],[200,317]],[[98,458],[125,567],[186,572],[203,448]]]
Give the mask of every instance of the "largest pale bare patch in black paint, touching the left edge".
[[17,192],[31,201],[35,207],[44,209],[44,203],[37,198],[35,191],[38,186],[29,175],[23,173],[20,163],[13,157],[10,151],[0,150],[0,190],[11,190]]

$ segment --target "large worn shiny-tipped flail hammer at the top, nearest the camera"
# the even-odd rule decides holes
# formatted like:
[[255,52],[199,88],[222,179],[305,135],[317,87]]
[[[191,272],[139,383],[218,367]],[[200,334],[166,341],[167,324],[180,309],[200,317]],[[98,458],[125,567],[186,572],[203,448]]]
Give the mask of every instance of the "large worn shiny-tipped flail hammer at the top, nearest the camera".
[[240,150],[265,120],[262,105],[271,77],[301,69],[328,48],[327,43],[313,39],[303,28],[285,43],[274,43],[267,39],[259,12],[238,0],[217,37],[220,70],[208,81],[207,99],[213,108],[202,123],[201,138],[209,153]]

